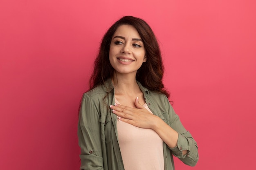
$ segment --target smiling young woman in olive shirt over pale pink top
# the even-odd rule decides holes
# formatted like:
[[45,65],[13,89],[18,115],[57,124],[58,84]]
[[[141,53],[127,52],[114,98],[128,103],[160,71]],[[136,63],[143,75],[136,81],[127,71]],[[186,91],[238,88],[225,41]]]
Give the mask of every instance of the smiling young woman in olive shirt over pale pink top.
[[83,95],[78,137],[81,170],[174,170],[198,146],[168,101],[159,46],[150,26],[125,16],[101,42]]

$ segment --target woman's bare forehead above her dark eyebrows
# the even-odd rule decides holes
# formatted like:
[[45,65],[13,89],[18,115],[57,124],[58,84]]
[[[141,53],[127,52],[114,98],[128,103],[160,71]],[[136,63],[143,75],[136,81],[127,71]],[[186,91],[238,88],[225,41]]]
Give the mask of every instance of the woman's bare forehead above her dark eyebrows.
[[137,29],[135,29],[135,27],[132,25],[119,26],[115,31],[114,35],[112,36],[112,38],[117,35],[127,37],[127,38],[141,38],[139,36]]

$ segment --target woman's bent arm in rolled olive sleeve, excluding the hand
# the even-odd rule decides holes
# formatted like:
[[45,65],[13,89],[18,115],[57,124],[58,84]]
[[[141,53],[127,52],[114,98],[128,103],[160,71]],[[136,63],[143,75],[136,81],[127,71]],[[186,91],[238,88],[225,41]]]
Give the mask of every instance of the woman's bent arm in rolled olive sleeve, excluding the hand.
[[159,119],[156,119],[156,122],[158,123],[153,121],[154,125],[158,127],[155,128],[155,130],[159,136],[162,134],[161,138],[175,157],[179,158],[182,162],[189,166],[195,166],[198,161],[197,143],[193,139],[190,132],[184,128],[179,116],[175,114],[167,98],[164,100],[164,102],[166,103],[165,106],[168,106],[168,111],[161,112],[160,110],[159,113],[161,114],[156,114]]

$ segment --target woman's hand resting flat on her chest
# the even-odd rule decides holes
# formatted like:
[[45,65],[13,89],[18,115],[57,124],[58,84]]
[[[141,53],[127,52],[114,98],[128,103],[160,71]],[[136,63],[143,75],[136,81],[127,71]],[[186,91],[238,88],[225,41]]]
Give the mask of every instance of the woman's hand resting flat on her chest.
[[123,105],[110,105],[113,109],[113,113],[118,116],[118,119],[124,121],[133,126],[139,128],[151,128],[156,125],[157,120],[161,120],[159,117],[151,114],[146,108],[144,108],[140,103],[138,97],[135,99],[135,106],[137,108],[131,108]]

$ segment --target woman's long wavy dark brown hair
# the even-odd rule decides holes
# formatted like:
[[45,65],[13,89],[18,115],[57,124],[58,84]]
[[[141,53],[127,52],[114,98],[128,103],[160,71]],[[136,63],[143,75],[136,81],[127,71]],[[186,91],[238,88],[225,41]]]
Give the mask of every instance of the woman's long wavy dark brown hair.
[[114,68],[109,61],[110,43],[117,28],[124,24],[132,25],[137,29],[146,50],[147,61],[143,62],[137,71],[136,80],[149,90],[158,91],[169,97],[169,93],[162,82],[164,66],[157,39],[150,26],[144,20],[133,16],[124,16],[115,22],[103,36],[99,54],[94,61],[94,71],[90,77],[90,90],[103,84],[113,76]]

